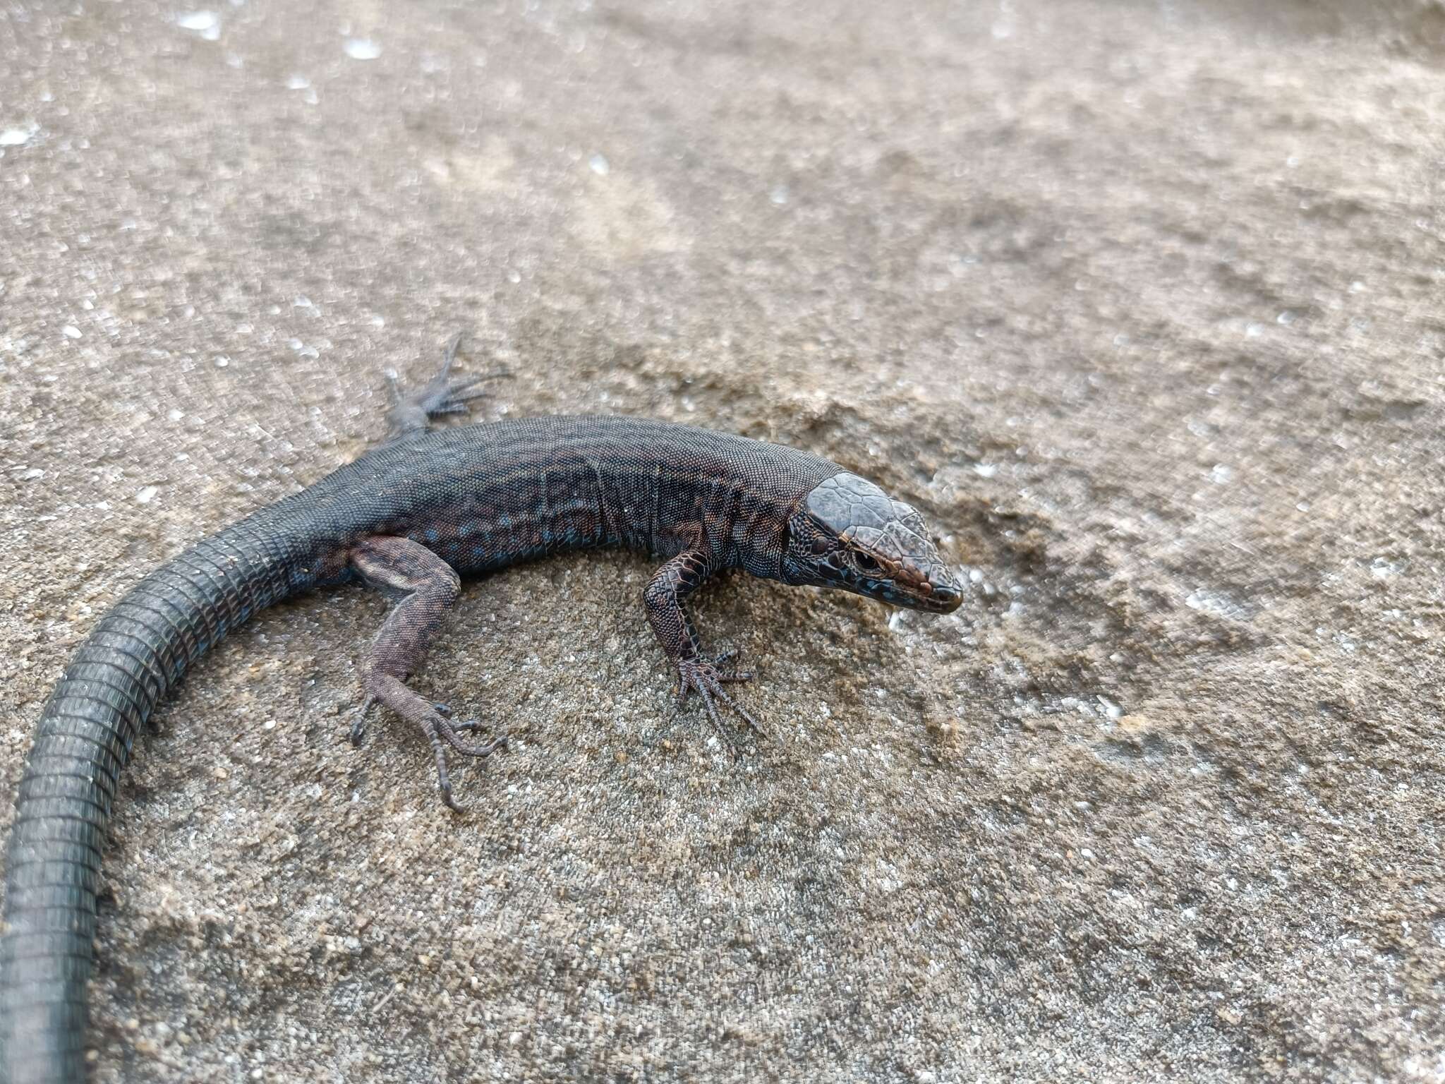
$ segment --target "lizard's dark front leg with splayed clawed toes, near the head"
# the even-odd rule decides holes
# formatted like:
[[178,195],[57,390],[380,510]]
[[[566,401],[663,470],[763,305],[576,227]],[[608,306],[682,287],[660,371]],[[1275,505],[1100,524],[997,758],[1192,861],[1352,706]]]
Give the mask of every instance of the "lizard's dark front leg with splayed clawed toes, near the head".
[[683,607],[683,600],[698,590],[712,571],[712,564],[705,552],[683,551],[653,572],[642,597],[647,607],[652,630],[657,635],[657,640],[672,665],[678,668],[678,704],[681,705],[688,694],[696,692],[702,698],[712,728],[731,746],[734,756],[741,756],[736,737],[718,717],[717,701],[727,704],[743,717],[744,723],[762,734],[763,728],[757,726],[757,721],[722,688],[725,682],[750,681],[753,675],[720,669],[718,663],[728,658],[725,655],[718,659],[707,658],[702,653],[692,619]]

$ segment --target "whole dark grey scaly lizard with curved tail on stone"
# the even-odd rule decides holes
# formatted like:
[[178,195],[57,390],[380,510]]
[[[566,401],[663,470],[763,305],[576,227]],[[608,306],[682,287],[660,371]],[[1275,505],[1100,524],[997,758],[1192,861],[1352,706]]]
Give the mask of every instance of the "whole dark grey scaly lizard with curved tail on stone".
[[101,841],[131,743],[186,666],[264,607],[360,578],[394,598],[366,668],[366,700],[426,734],[452,808],[445,750],[486,756],[451,713],[407,685],[460,575],[592,546],[666,558],[643,601],[718,733],[722,688],[749,675],[711,659],[683,600],[724,568],[841,587],[946,613],[961,588],[919,515],[816,455],[636,418],[532,418],[426,432],[478,379],[442,371],[396,393],[393,439],[309,489],[207,538],[142,580],[95,626],[46,701],[6,851],[0,1084],[84,1080],[85,981]]

